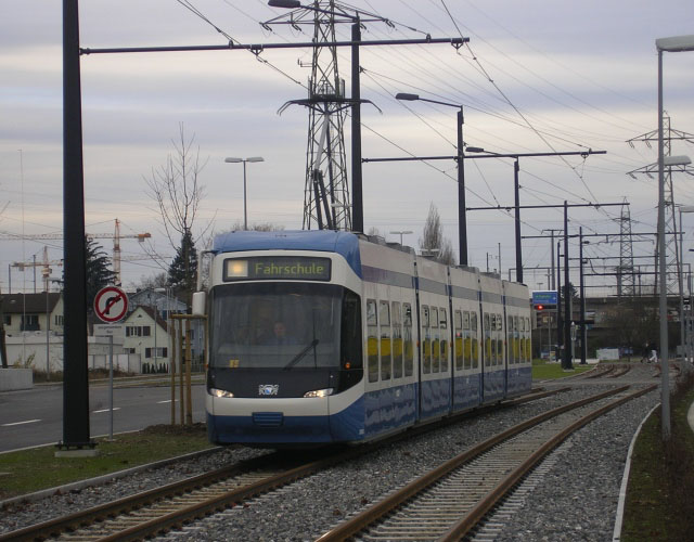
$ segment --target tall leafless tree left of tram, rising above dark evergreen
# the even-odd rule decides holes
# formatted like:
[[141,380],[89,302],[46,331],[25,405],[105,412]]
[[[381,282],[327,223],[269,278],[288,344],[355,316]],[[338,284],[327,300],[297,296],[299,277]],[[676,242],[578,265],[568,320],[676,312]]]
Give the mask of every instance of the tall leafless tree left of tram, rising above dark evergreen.
[[[180,260],[184,279],[181,283],[190,285],[195,283],[196,273],[195,266],[192,264],[196,258],[193,254],[194,243],[207,232],[214,219],[200,229],[196,236],[193,235],[200,204],[205,196],[205,189],[200,183],[200,173],[206,162],[201,162],[200,147],[194,146],[195,134],[187,140],[183,122],[179,124],[178,138],[171,140],[171,144],[174,152],[167,156],[163,166],[152,169],[152,175],[145,178],[145,182],[149,188],[147,195],[159,208],[162,225],[171,247],[182,251]],[[192,292],[187,294],[191,295]]]

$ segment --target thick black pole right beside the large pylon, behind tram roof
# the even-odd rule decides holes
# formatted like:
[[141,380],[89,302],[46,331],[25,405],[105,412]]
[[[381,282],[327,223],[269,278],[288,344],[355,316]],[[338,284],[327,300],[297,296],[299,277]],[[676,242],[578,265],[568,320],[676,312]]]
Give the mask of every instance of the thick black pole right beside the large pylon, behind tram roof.
[[364,208],[361,179],[361,90],[359,82],[359,21],[351,25],[351,229],[364,231]]

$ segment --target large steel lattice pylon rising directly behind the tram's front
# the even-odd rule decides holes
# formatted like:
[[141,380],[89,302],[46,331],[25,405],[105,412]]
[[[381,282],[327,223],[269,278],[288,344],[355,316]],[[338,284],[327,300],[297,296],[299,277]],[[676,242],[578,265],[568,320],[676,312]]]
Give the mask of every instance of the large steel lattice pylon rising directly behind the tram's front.
[[[311,25],[313,42],[325,43],[336,41],[336,24],[374,21],[389,24],[377,15],[356,11],[335,0],[316,0],[311,9],[293,10],[264,26],[285,24],[299,29]],[[351,230],[344,124],[352,100],[345,95],[345,80],[339,77],[337,48],[313,47],[310,68],[308,98],[292,100],[280,109],[290,104],[305,105],[309,109],[303,228]]]

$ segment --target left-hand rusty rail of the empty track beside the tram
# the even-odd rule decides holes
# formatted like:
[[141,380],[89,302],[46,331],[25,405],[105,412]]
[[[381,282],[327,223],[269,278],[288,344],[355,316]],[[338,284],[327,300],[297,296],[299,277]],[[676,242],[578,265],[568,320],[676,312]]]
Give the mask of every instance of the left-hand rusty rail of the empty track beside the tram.
[[586,399],[581,399],[579,401],[576,401],[569,404],[565,404],[563,406],[557,406],[556,409],[539,414],[532,418],[522,422],[520,424],[514,427],[511,427],[502,433],[499,433],[492,436],[491,438],[485,440],[484,442],[480,442],[465,450],[463,453],[457,455],[455,457],[448,460],[447,462],[442,463],[441,465],[434,468],[429,473],[421,476],[420,478],[413,480],[412,482],[408,483],[407,486],[399,489],[398,491],[391,493],[390,495],[385,498],[383,501],[375,503],[374,505],[370,506],[369,508],[361,512],[360,514],[357,514],[356,516],[348,519],[347,521],[344,521],[343,524],[338,525],[334,529],[330,530],[329,532],[320,537],[317,540],[317,542],[337,542],[337,541],[344,541],[346,539],[349,539],[350,537],[354,537],[358,532],[363,530],[367,526],[375,522],[376,520],[389,514],[393,509],[400,506],[402,503],[404,503],[406,501],[414,496],[416,493],[423,491],[424,489],[429,487],[432,483],[439,480],[441,477],[453,472],[454,469],[459,468],[463,464],[468,463],[473,459],[477,457],[484,452],[496,447],[498,443],[504,440],[507,440],[509,438],[514,437],[515,435],[518,435],[547,420],[555,417],[567,411],[577,409],[579,406],[589,404],[594,401],[599,401],[601,399],[605,399],[616,393],[620,393],[622,391],[626,391],[627,389],[629,389],[629,386],[622,386],[619,388],[604,391],[602,393],[597,393],[595,396],[592,396]]

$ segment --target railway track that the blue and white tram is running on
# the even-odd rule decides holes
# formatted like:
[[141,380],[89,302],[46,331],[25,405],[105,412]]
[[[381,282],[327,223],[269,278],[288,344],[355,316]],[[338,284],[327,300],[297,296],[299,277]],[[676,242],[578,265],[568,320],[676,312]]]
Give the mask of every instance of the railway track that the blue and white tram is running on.
[[[247,462],[220,468],[204,475],[126,496],[69,516],[0,534],[0,542],[28,540],[127,541],[142,540],[209,514],[221,512],[243,501],[266,493],[321,469],[345,462],[403,438],[430,431],[436,427],[458,423],[471,415],[541,399],[566,391],[534,390],[531,393],[475,411],[441,420],[396,435],[373,446],[364,444],[342,452],[323,453],[317,461],[286,461],[286,454],[272,453]],[[280,459],[284,457],[284,460]]]

